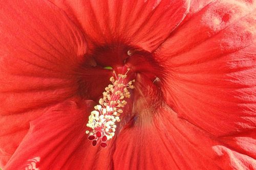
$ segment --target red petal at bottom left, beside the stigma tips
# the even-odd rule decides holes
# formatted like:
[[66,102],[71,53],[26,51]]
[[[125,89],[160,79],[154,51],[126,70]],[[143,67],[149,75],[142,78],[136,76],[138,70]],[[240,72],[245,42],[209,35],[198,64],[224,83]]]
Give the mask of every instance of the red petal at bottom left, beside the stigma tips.
[[[90,161],[84,156],[96,151],[85,133],[94,105],[93,101],[70,99],[49,108],[31,122],[5,169],[25,169],[33,162],[40,169],[81,169]],[[94,148],[94,152],[89,153],[84,146]]]

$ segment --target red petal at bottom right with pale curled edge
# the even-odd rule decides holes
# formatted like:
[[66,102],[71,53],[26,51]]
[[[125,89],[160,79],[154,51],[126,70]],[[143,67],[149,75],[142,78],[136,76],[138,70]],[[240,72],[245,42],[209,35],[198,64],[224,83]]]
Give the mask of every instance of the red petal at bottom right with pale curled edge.
[[[113,156],[116,169],[253,169],[256,165],[249,152],[239,152],[241,145],[231,148],[179,118],[168,106],[143,119],[137,117],[119,134]],[[249,148],[255,139],[247,141],[243,145]]]

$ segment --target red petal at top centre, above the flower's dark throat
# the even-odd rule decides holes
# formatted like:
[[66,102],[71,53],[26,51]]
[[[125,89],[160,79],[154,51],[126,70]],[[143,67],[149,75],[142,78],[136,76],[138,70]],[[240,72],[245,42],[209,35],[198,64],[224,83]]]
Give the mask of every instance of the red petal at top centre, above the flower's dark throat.
[[52,1],[77,23],[90,46],[121,43],[153,51],[188,12],[188,1]]

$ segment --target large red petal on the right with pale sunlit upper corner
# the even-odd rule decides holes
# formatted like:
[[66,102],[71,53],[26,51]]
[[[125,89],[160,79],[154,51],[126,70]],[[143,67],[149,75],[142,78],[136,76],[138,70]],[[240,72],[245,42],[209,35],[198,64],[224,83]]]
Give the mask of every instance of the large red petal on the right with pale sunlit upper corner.
[[[166,101],[216,136],[256,127],[255,12],[240,1],[211,3],[162,44]],[[182,39],[188,39],[187,41]]]

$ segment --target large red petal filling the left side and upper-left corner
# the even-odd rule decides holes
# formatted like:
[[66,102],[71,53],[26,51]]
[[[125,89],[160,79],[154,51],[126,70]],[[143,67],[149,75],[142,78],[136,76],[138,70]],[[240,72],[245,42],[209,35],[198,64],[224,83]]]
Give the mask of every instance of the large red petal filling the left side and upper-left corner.
[[0,2],[0,164],[5,164],[46,107],[78,92],[74,68],[86,42],[47,1]]

